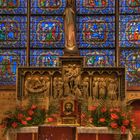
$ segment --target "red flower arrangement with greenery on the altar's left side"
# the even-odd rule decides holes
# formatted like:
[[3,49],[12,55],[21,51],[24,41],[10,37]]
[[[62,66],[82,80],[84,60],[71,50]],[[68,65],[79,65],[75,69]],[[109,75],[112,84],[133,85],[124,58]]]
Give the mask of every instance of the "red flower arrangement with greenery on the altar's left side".
[[9,129],[43,124],[46,119],[46,110],[30,104],[27,107],[18,106],[14,111],[6,112],[5,115],[6,117],[0,123],[4,134]]

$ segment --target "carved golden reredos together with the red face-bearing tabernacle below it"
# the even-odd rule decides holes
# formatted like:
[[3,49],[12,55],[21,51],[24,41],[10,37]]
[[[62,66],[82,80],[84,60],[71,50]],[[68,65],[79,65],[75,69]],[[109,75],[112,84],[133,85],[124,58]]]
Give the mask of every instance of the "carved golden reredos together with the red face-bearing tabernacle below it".
[[90,100],[96,104],[109,101],[114,106],[124,100],[124,68],[84,67],[83,59],[73,56],[59,60],[60,65],[54,68],[18,68],[17,95],[22,102],[36,103],[37,98],[46,109],[55,102],[61,124],[80,124],[84,102],[90,106]]

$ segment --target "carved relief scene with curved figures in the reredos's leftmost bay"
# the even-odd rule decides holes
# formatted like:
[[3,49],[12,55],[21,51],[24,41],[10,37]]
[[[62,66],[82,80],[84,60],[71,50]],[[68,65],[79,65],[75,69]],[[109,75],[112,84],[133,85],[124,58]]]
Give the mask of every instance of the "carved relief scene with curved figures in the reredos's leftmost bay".
[[49,96],[50,79],[47,76],[29,76],[25,79],[25,96],[32,94],[42,94],[45,97]]

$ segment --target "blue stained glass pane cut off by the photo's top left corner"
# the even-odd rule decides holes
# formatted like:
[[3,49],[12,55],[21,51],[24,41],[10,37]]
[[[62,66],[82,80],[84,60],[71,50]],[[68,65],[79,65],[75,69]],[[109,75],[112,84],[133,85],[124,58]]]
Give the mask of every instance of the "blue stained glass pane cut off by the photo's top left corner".
[[0,0],[0,14],[26,14],[27,0]]

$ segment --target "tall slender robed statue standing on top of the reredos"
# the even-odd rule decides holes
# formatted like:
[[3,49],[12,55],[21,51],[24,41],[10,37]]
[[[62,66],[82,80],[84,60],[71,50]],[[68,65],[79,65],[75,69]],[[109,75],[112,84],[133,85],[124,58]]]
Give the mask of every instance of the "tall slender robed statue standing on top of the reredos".
[[67,0],[64,15],[64,31],[65,31],[65,50],[64,52],[75,52],[76,48],[76,35],[75,35],[75,12],[74,1]]

